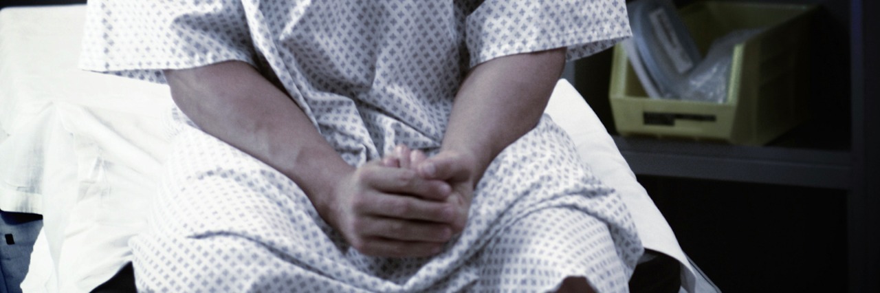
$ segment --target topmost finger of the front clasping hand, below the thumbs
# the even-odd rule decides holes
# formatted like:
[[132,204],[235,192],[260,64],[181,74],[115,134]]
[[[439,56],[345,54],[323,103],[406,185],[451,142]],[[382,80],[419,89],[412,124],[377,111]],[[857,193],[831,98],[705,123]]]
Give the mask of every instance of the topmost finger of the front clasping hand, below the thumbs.
[[412,170],[401,168],[365,168],[360,176],[368,187],[386,194],[407,194],[422,199],[443,201],[452,187],[440,180],[422,179]]

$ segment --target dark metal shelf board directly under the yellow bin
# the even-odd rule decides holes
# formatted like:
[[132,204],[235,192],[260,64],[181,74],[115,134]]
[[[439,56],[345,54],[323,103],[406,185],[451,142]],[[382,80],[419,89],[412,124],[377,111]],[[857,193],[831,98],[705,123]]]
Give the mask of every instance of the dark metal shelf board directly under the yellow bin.
[[614,136],[640,175],[848,189],[851,156],[844,150],[792,149]]

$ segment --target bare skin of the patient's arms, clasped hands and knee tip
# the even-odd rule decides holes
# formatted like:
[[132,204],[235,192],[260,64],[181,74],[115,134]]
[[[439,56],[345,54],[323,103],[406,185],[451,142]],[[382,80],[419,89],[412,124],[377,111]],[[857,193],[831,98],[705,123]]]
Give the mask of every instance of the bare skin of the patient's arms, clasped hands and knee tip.
[[[564,61],[558,48],[480,63],[459,88],[436,156],[401,146],[358,168],[245,62],[165,70],[165,78],[196,125],[296,182],[355,249],[422,257],[464,229],[473,187],[501,150],[537,125]],[[590,289],[583,278],[568,278],[561,290],[569,283]]]

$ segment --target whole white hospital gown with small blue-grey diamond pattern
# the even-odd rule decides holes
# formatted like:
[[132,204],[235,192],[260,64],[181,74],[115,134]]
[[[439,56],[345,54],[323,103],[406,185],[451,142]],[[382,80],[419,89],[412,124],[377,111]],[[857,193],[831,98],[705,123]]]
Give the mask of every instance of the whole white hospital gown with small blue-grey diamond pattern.
[[[105,0],[88,11],[82,68],[164,83],[161,70],[248,62],[350,165],[399,143],[436,153],[481,62],[560,47],[574,60],[630,34],[620,0]],[[405,259],[358,253],[292,180],[179,109],[168,120],[150,231],[129,243],[142,290],[546,291],[585,276],[619,292],[642,254],[620,196],[547,117],[488,166],[444,252]]]

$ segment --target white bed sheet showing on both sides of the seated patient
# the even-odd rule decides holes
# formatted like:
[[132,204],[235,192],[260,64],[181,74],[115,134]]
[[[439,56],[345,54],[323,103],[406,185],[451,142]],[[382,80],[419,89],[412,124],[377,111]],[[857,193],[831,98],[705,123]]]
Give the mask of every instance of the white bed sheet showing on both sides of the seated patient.
[[[167,151],[167,87],[77,70],[84,9],[0,11],[0,209],[44,214],[23,284],[33,291],[88,291],[129,260]],[[693,267],[590,106],[561,81],[546,113],[692,290]]]

